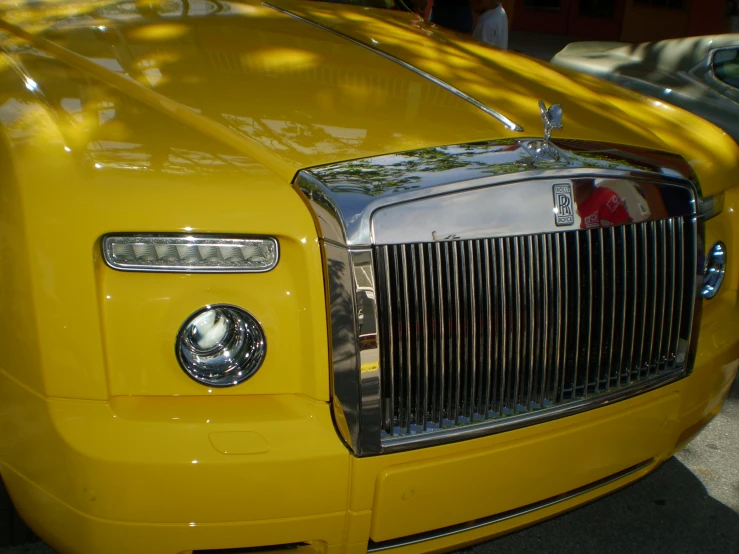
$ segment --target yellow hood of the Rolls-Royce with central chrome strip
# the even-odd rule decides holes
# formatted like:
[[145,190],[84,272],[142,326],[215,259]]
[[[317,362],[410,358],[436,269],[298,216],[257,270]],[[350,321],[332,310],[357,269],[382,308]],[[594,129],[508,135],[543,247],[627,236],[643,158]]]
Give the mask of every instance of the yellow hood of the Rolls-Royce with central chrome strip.
[[[721,131],[682,110],[408,13],[304,0],[272,7],[191,0],[60,4],[7,10],[2,19],[35,55],[74,65],[289,179],[341,160],[541,136],[539,100],[563,105],[561,137],[677,152],[699,175],[737,162]],[[30,73],[33,67],[27,63]],[[64,86],[62,77],[55,84],[53,75],[36,76]]]

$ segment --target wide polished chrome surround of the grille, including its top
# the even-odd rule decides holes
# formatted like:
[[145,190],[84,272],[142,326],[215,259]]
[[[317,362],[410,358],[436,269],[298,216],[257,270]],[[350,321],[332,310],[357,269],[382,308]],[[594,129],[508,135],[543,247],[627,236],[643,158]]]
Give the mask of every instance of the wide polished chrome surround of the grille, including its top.
[[[578,194],[581,185],[590,182],[596,187],[621,187],[617,194],[629,213],[636,214],[632,222],[687,217],[695,223],[695,257],[702,263],[703,220],[712,215],[704,208],[697,177],[683,158],[637,147],[553,139],[560,159],[540,163],[531,157],[531,148],[540,142],[521,139],[433,147],[298,173],[295,186],[313,214],[325,263],[334,423],[354,455],[372,456],[508,431],[612,404],[685,375],[661,376],[625,391],[571,401],[545,414],[521,414],[494,425],[483,421],[434,433],[383,437],[373,263],[377,247],[567,231],[572,218],[552,214],[552,185],[566,183],[571,183],[574,195],[570,200],[578,206],[572,223],[592,227],[592,218],[581,220],[583,197]],[[554,189],[555,215],[560,190]],[[636,200],[639,195],[641,200]],[[643,205],[635,205],[635,200]],[[703,275],[696,272],[687,278],[697,285]],[[695,359],[702,306],[697,291],[694,298],[688,370]]]

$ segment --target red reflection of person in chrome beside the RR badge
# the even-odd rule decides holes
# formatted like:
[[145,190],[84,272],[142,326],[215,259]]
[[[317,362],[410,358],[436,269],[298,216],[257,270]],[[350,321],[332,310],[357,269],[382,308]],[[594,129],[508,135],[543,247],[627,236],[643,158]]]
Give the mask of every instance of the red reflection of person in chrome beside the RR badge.
[[583,229],[598,229],[631,223],[623,199],[608,187],[598,187],[593,179],[573,179],[575,204]]

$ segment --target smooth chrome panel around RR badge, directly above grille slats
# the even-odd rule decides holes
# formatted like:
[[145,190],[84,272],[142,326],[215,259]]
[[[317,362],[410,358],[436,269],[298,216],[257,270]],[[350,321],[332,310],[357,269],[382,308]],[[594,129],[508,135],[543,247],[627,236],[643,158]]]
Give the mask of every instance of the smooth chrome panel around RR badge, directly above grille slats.
[[[574,224],[568,227],[557,225],[552,217],[554,206],[551,190],[563,182],[577,183],[575,186],[583,190],[604,187],[618,191],[631,205],[628,224],[660,217],[658,206],[649,205],[646,200],[651,196],[669,197],[678,205],[670,207],[669,216],[690,216],[694,213],[692,191],[684,185],[654,178],[623,177],[610,172],[591,171],[587,177],[583,177],[561,171],[560,175],[556,179],[528,178],[383,206],[371,215],[372,243],[385,245],[472,240],[556,233],[583,226],[597,228],[583,221],[577,201],[573,206],[576,210]],[[642,205],[646,206],[645,211],[641,211]],[[460,214],[464,216],[460,217]],[[585,252],[593,247],[590,243],[582,244]],[[529,255],[528,245],[521,242],[519,248],[526,251],[525,256]]]

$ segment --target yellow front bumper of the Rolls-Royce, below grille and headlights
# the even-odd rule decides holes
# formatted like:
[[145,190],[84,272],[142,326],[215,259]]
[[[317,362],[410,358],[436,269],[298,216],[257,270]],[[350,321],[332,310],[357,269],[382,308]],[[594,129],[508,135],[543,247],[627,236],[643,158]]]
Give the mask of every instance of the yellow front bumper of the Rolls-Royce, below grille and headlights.
[[[732,318],[735,306],[735,294],[722,295],[712,310]],[[704,322],[693,373],[656,391],[362,459],[339,441],[329,406],[303,397],[80,402],[0,373],[2,475],[21,515],[62,554],[452,549],[593,500],[671,456],[736,376],[739,341],[725,321]]]

